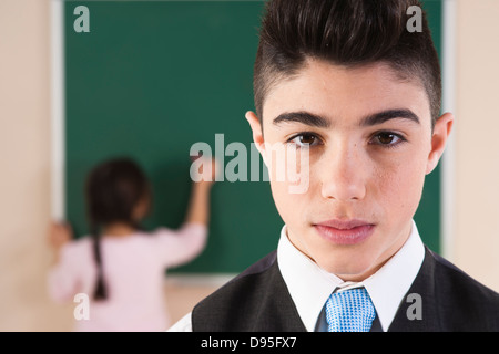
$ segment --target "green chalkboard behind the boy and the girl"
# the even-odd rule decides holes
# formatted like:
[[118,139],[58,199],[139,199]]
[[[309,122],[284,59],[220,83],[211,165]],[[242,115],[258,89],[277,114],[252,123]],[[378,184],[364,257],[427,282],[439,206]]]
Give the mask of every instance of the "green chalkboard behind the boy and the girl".
[[[84,179],[103,159],[139,162],[154,194],[145,228],[177,228],[190,195],[191,146],[205,142],[215,148],[220,133],[225,146],[241,142],[249,152],[244,113],[254,110],[253,62],[263,4],[64,3],[65,214],[78,237],[88,232]],[[439,45],[440,3],[427,4]],[[74,30],[78,6],[89,9],[90,32]],[[424,241],[437,251],[439,208],[437,170],[427,180],[416,218]],[[267,181],[218,181],[211,209],[206,249],[174,271],[240,272],[275,249],[283,221]]]

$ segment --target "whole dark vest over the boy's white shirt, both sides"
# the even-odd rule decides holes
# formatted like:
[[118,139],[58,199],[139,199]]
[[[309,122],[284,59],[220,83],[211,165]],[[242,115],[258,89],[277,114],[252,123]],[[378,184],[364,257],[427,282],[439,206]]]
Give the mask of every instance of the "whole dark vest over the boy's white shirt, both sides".
[[[281,274],[276,252],[259,260],[201,301],[192,312],[194,332],[306,331]],[[421,319],[408,315],[421,299]],[[410,298],[413,299],[413,298]],[[376,317],[371,331],[380,331]],[[499,331],[499,294],[426,248],[425,260],[400,302],[389,331]]]

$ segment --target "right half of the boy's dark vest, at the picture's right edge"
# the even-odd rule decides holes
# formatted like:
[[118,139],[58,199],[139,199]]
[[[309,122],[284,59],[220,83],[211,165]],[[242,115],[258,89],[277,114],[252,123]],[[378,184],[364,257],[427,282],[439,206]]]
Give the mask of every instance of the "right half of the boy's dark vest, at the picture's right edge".
[[427,247],[409,294],[419,294],[422,315],[409,316],[415,304],[403,300],[389,331],[499,331],[499,294]]

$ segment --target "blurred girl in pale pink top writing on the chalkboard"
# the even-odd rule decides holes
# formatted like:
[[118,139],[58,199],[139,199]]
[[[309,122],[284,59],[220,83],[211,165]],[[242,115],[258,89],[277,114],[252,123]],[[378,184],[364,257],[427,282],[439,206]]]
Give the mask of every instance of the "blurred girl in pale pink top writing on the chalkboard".
[[[164,273],[203,250],[208,223],[210,190],[215,176],[193,183],[184,223],[177,230],[141,230],[151,207],[150,184],[131,159],[96,166],[86,181],[91,236],[72,240],[71,229],[53,223],[49,242],[55,250],[49,293],[54,301],[90,299],[89,320],[75,331],[165,331]],[[210,178],[208,178],[210,179]]]

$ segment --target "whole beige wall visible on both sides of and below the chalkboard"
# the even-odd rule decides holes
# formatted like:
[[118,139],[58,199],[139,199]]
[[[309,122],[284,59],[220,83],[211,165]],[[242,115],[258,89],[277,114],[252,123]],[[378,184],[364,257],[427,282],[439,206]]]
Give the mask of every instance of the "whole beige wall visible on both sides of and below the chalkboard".
[[[452,261],[499,291],[499,1],[457,0]],[[0,1],[0,331],[67,331],[71,306],[45,294],[50,252],[50,11]],[[208,287],[166,288],[180,317]]]

